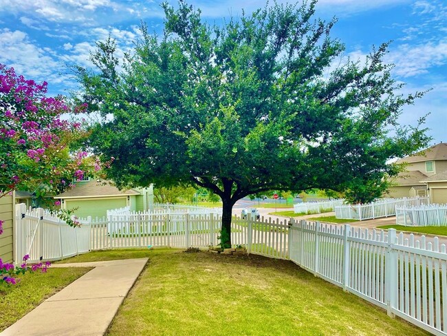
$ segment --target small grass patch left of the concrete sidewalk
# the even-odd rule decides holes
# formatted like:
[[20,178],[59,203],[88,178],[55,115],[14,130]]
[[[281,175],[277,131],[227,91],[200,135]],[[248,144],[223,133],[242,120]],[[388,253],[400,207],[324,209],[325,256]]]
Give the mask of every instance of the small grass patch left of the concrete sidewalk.
[[[47,297],[87,273],[90,268],[48,269],[47,273],[27,273],[15,286],[0,286],[0,332],[41,304]],[[48,322],[52,323],[52,322]]]

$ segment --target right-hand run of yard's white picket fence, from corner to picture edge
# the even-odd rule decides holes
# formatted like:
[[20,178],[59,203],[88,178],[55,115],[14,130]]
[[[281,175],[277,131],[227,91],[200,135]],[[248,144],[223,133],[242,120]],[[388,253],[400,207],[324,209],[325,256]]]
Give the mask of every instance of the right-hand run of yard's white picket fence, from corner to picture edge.
[[437,238],[294,222],[290,260],[435,335],[447,335],[447,253]]

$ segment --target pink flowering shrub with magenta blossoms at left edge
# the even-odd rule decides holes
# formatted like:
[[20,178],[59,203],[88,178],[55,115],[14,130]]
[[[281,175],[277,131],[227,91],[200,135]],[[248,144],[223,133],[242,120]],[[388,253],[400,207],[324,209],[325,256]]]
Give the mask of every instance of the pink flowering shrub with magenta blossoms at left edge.
[[86,112],[87,105],[70,107],[62,96],[46,93],[46,82],[27,80],[0,64],[0,197],[42,185],[45,193],[58,193],[73,178],[82,179],[88,167],[93,170],[85,151],[70,148],[87,132],[61,118]]

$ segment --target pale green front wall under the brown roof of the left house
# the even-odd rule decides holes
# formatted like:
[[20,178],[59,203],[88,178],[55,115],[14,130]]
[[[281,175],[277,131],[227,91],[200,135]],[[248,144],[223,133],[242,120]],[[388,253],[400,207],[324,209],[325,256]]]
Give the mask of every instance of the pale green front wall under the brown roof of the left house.
[[96,198],[83,200],[65,200],[65,209],[74,209],[76,216],[85,218],[91,216],[92,218],[106,216],[107,210],[118,209],[126,207],[127,196],[119,198]]

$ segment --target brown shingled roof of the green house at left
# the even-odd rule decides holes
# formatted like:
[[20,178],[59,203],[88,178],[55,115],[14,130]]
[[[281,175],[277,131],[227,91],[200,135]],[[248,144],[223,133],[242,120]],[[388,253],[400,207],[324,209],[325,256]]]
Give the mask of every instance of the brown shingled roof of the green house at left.
[[108,181],[89,181],[76,185],[65,193],[59,193],[54,198],[93,198],[124,195],[140,195],[140,193],[134,189],[120,190]]

